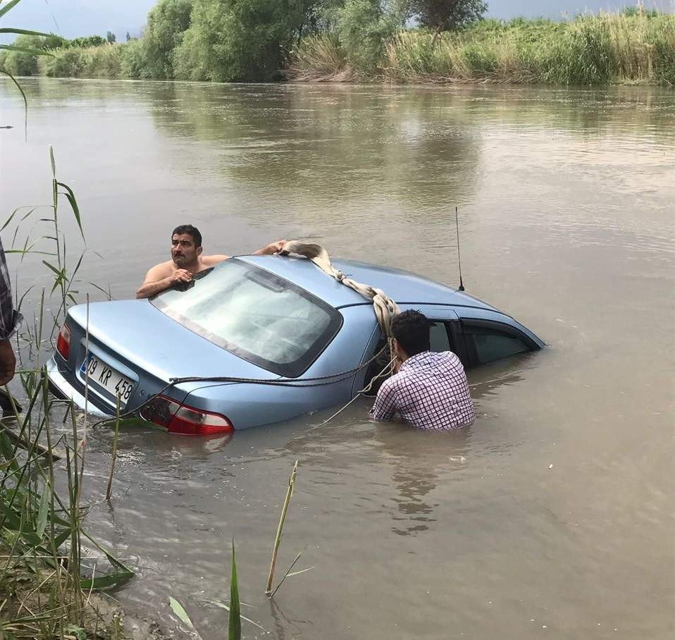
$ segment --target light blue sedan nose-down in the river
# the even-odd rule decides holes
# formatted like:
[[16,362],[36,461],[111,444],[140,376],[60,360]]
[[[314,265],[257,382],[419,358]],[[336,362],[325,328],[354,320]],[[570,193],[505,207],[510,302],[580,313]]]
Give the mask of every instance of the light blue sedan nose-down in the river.
[[[466,369],[543,347],[461,291],[407,271],[333,264],[402,311],[419,309],[432,322],[431,349],[457,353]],[[80,407],[88,375],[90,412],[113,416],[119,402],[171,432],[221,433],[349,401],[380,373],[383,362],[358,368],[384,344],[371,302],[308,259],[245,256],[150,300],[71,308],[48,374],[52,393]]]

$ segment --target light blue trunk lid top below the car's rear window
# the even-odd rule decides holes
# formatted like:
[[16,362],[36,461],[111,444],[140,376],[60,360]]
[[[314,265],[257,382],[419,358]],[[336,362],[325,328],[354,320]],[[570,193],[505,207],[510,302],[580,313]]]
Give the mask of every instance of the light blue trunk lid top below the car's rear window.
[[[87,306],[70,309],[71,318],[87,326]],[[149,300],[89,304],[89,335],[157,379],[187,376],[277,378],[275,374],[210,343],[156,309]]]

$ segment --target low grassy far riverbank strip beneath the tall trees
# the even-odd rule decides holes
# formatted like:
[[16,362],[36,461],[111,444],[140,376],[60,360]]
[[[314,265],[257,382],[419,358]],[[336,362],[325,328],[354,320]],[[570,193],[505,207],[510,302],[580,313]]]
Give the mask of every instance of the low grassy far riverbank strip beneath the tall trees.
[[[352,40],[314,32],[289,47],[283,68],[260,77],[232,75],[218,59],[200,63],[188,39],[158,59],[147,39],[52,49],[24,68],[51,78],[675,85],[675,15],[655,12],[479,20],[454,32],[412,29]],[[9,56],[0,56],[2,65],[17,71]]]

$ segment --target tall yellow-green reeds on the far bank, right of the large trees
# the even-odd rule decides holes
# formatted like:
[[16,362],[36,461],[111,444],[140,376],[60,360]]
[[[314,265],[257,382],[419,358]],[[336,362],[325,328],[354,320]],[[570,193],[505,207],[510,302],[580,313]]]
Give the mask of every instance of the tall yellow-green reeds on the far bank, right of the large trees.
[[[292,51],[297,80],[352,79],[348,51],[334,37],[311,36]],[[482,20],[435,38],[398,32],[385,44],[377,78],[392,82],[675,84],[675,16],[598,13],[569,22]]]

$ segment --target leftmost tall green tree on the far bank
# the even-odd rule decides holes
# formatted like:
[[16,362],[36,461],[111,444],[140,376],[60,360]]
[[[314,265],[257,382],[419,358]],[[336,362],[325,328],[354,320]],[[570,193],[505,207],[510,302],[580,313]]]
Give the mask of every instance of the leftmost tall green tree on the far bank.
[[159,0],[148,13],[143,34],[147,75],[162,80],[173,78],[174,50],[190,27],[192,0]]

